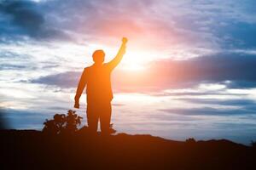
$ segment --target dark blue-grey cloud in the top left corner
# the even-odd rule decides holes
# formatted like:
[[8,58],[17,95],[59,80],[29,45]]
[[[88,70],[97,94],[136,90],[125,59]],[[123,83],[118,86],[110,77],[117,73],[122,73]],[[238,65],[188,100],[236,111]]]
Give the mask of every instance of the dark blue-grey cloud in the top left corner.
[[43,8],[31,1],[1,1],[0,15],[5,20],[1,20],[0,35],[7,39],[10,37],[19,38],[22,35],[33,38],[68,38],[67,35],[50,26],[44,19]]

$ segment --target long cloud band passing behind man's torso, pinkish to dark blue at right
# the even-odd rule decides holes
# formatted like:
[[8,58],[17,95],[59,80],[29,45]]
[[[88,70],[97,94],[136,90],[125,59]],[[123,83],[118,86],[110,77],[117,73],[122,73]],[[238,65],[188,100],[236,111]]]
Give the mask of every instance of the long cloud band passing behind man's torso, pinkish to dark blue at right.
[[[256,57],[248,54],[215,54],[188,60],[163,59],[152,62],[146,71],[137,74],[114,71],[113,87],[122,92],[147,92],[192,88],[202,82],[220,82],[227,88],[253,88],[256,86],[255,65]],[[31,82],[75,88],[80,74],[67,71],[39,77]]]

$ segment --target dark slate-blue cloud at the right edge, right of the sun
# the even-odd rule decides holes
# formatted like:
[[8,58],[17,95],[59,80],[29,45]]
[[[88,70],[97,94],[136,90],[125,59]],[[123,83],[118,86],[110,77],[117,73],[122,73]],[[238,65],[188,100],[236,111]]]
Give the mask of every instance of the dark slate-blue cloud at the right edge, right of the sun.
[[[248,54],[214,54],[185,61],[171,61],[158,64],[169,74],[177,74],[176,79],[191,81],[255,82],[256,57]],[[169,69],[167,69],[169,67]]]

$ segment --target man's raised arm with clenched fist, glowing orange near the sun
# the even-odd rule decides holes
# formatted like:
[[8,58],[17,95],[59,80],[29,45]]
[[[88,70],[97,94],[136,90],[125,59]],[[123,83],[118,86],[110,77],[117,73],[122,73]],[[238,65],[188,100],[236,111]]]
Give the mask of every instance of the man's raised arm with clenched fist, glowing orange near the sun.
[[125,54],[125,48],[126,48],[126,42],[127,41],[128,41],[127,38],[123,37],[122,45],[119,48],[118,54],[110,62],[107,63],[107,65],[110,67],[111,70],[113,70],[114,67],[116,67],[119,64],[121,59],[123,59],[123,55]]

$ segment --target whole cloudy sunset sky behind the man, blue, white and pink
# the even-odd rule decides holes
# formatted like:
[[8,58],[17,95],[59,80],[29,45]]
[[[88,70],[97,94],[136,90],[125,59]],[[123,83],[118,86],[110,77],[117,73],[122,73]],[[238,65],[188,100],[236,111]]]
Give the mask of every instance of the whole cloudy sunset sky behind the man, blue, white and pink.
[[9,126],[42,129],[69,109],[92,53],[113,59],[119,133],[256,139],[256,1],[0,0],[0,108]]

